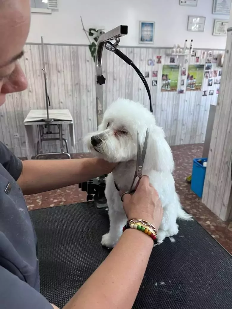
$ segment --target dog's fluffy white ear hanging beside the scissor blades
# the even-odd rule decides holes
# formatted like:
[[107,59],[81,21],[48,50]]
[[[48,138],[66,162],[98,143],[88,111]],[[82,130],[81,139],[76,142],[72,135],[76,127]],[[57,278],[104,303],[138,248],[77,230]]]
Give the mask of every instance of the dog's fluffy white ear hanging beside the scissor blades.
[[148,146],[144,162],[145,170],[172,172],[174,160],[172,151],[162,128],[154,126],[148,131]]

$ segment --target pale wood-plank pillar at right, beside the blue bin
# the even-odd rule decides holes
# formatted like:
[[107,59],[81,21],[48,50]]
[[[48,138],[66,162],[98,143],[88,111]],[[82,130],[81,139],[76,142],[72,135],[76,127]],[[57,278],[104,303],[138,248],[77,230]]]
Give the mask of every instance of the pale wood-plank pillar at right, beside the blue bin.
[[[230,28],[231,29],[231,28]],[[227,33],[221,78],[202,202],[222,220],[232,218],[232,32]]]

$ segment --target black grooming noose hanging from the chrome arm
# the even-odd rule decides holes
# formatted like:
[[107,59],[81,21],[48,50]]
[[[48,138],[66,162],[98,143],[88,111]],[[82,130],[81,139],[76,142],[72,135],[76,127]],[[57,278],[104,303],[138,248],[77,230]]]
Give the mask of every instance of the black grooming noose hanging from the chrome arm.
[[148,97],[149,97],[149,101],[150,101],[150,112],[153,112],[152,109],[152,98],[151,98],[151,92],[148,86],[148,83],[146,81],[146,79],[144,78],[143,74],[140,72],[140,70],[137,68],[137,66],[135,66],[135,64],[133,63],[133,61],[128,58],[126,55],[124,55],[124,53],[122,53],[119,49],[117,49],[116,47],[118,46],[119,43],[119,38],[118,41],[116,40],[116,43],[112,44],[110,41],[105,42],[105,48],[107,50],[109,50],[110,52],[115,53],[118,57],[120,57],[123,61],[125,61],[127,64],[129,64],[129,66],[132,66],[132,68],[135,70],[135,72],[139,75],[139,77],[141,78],[147,93],[148,93]]

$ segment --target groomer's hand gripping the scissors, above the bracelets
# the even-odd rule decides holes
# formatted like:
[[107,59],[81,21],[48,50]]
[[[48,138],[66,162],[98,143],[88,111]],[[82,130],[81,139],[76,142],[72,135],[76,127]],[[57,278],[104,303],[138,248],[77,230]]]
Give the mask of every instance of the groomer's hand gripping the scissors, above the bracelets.
[[123,208],[128,219],[146,220],[158,230],[163,217],[163,208],[159,195],[150,184],[148,176],[140,179],[133,195],[123,196]]

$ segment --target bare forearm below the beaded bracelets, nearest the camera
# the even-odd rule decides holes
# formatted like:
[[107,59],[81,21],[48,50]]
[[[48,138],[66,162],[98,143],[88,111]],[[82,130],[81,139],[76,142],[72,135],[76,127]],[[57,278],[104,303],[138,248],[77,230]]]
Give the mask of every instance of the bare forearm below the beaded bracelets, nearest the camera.
[[153,240],[126,230],[105,261],[63,309],[131,309],[140,288]]

